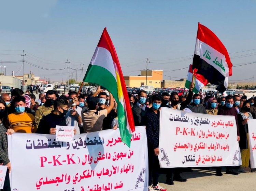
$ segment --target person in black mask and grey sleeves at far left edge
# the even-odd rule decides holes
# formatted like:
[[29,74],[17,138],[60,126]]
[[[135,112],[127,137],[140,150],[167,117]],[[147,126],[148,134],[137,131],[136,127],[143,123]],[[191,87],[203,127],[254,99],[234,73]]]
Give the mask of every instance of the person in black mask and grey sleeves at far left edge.
[[4,191],[11,191],[9,179],[9,173],[11,172],[11,162],[8,158],[8,144],[6,134],[12,135],[13,133],[14,130],[10,129],[9,126],[6,104],[3,100],[0,100],[0,163],[7,166],[8,168],[4,180]]

